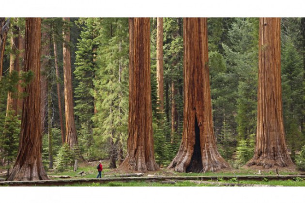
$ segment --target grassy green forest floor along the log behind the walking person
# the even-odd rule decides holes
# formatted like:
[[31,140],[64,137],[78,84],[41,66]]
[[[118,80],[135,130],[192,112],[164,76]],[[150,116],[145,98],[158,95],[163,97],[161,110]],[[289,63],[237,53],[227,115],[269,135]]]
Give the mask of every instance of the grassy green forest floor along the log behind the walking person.
[[[305,179],[296,178],[293,180],[268,180],[267,178],[263,179],[263,181],[259,180],[237,180],[236,178],[231,178],[229,180],[223,180],[221,176],[242,176],[242,175],[305,175],[305,172],[300,172],[296,170],[294,166],[285,167],[285,168],[277,168],[271,169],[262,169],[262,167],[247,167],[243,166],[239,169],[225,169],[219,172],[206,172],[206,173],[181,173],[175,172],[173,170],[169,170],[166,168],[161,168],[155,172],[135,172],[135,171],[119,171],[118,169],[109,169],[109,161],[102,160],[103,164],[103,172],[102,178],[111,178],[111,177],[173,177],[173,176],[217,176],[219,180],[206,182],[206,181],[191,181],[191,180],[174,180],[174,181],[160,181],[160,182],[152,182],[152,181],[128,181],[128,182],[119,182],[119,181],[111,181],[108,183],[80,183],[73,184],[69,186],[305,186]],[[84,161],[78,164],[78,169],[76,172],[73,171],[71,167],[70,170],[64,172],[58,172],[56,170],[48,170],[47,174],[51,180],[61,180],[61,179],[92,179],[97,176],[96,166],[98,165],[98,161]],[[118,166],[119,164],[117,164]],[[5,170],[0,170],[0,178],[5,179],[4,176]],[[68,185],[67,185],[68,186]]]

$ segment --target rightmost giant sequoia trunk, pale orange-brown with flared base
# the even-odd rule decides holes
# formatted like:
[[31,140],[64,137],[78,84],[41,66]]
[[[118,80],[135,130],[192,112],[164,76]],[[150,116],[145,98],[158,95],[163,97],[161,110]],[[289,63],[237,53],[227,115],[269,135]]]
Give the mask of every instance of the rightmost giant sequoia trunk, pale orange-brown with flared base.
[[259,19],[258,126],[256,149],[248,166],[292,164],[283,125],[280,32],[280,18]]

